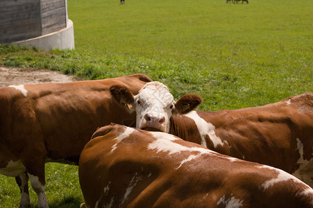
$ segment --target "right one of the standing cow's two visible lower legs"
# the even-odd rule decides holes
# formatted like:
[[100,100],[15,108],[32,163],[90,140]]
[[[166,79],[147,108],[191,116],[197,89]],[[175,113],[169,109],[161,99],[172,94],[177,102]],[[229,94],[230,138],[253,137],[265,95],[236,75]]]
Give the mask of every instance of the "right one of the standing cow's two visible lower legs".
[[44,191],[44,185],[45,185],[45,181],[42,183],[40,182],[40,178],[35,176],[35,175],[31,175],[30,173],[28,173],[29,175],[29,179],[31,180],[31,187],[33,187],[35,193],[37,194],[37,198],[38,198],[38,207],[40,208],[48,208],[48,202],[46,202],[46,193]]

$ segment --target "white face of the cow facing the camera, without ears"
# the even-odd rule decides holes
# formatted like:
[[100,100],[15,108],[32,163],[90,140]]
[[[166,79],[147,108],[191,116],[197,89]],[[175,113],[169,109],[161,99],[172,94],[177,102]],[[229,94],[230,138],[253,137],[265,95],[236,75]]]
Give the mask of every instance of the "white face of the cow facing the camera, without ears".
[[137,128],[169,132],[169,118],[175,101],[167,86],[159,82],[147,83],[134,96],[134,101]]

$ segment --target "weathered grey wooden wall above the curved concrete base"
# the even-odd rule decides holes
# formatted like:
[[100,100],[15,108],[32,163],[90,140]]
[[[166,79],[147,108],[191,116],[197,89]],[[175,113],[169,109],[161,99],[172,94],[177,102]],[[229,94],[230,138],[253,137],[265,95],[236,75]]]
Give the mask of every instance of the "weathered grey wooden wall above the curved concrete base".
[[67,27],[67,0],[0,0],[0,44]]

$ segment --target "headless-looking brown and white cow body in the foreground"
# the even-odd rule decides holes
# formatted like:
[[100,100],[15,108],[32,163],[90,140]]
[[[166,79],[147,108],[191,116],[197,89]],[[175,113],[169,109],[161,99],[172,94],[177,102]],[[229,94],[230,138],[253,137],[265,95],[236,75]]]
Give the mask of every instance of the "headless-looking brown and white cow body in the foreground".
[[313,189],[278,168],[164,132],[97,130],[79,159],[87,207],[312,207]]

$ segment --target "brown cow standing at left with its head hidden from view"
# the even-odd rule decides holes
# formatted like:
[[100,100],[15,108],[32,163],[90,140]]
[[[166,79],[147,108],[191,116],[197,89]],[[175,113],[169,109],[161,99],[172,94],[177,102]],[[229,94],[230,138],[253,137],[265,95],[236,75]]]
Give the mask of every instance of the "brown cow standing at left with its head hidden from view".
[[0,173],[15,177],[21,190],[19,207],[30,205],[28,177],[37,193],[38,207],[48,207],[45,162],[78,164],[81,150],[96,128],[111,122],[135,126],[135,112],[119,105],[110,87],[124,86],[137,94],[150,81],[148,76],[134,74],[1,88]]

